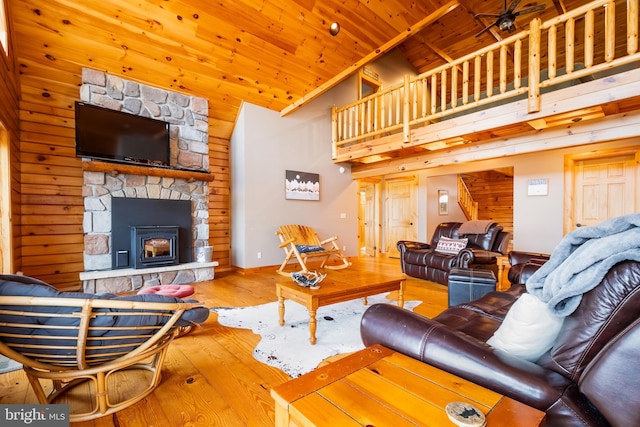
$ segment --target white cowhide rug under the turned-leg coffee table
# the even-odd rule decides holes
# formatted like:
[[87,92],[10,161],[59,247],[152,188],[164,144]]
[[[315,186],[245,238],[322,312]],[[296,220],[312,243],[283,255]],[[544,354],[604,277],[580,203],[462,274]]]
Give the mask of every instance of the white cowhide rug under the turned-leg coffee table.
[[[396,305],[386,294],[346,301],[320,307],[316,313],[317,329],[315,345],[309,342],[309,313],[298,303],[285,300],[284,326],[279,325],[278,303],[253,307],[216,307],[218,322],[232,328],[251,329],[262,339],[253,350],[253,357],[267,365],[275,366],[296,378],[314,370],[324,359],[337,354],[350,353],[364,348],[360,338],[360,319],[372,304]],[[422,301],[405,301],[404,308],[413,310]]]

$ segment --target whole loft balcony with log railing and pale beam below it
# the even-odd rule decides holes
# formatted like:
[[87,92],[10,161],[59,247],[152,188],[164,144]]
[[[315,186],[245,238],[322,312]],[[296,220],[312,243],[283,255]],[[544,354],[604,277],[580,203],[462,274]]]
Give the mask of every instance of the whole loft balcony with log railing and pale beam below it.
[[[334,162],[365,177],[637,136],[638,3],[598,0],[534,19],[526,31],[334,107]],[[571,137],[577,128],[581,140]],[[545,130],[547,143],[536,138]]]

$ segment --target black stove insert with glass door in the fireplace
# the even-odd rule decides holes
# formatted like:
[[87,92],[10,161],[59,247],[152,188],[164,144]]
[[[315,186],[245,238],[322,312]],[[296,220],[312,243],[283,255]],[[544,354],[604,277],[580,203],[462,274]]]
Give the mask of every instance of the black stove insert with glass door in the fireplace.
[[177,226],[132,226],[134,268],[175,265],[180,262]]

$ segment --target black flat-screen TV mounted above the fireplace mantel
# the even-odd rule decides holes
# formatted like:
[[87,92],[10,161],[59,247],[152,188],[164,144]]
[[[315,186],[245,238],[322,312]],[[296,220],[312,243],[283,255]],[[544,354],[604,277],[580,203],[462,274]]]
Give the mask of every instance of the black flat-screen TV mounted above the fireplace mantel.
[[76,156],[168,167],[169,123],[76,102]]

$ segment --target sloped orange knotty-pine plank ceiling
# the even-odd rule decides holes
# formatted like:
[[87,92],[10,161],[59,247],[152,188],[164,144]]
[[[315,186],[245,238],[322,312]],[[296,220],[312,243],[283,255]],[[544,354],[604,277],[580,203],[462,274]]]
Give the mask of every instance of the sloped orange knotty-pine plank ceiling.
[[[209,99],[212,136],[229,138],[243,101],[290,107],[369,56],[446,0],[8,0],[23,95],[77,91],[82,67]],[[516,19],[557,16],[586,1],[523,0]],[[478,13],[502,0],[454,0],[442,18],[397,46],[416,72],[509,33]],[[509,6],[509,5],[507,5]],[[331,22],[340,23],[335,37]],[[373,53],[373,55],[371,55]],[[382,54],[382,53],[380,53]],[[77,81],[60,75],[73,73]],[[28,88],[28,89],[27,89]],[[34,90],[37,88],[37,90]],[[72,105],[61,107],[72,108]],[[329,142],[327,142],[329,143]]]

